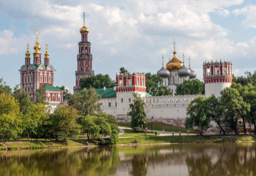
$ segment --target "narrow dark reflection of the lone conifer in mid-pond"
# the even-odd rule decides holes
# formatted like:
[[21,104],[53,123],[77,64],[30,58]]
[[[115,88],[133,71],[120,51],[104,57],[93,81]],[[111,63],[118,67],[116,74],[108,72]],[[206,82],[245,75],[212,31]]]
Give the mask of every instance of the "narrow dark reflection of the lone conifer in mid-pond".
[[134,176],[147,175],[147,161],[145,154],[134,155],[131,159],[132,171]]

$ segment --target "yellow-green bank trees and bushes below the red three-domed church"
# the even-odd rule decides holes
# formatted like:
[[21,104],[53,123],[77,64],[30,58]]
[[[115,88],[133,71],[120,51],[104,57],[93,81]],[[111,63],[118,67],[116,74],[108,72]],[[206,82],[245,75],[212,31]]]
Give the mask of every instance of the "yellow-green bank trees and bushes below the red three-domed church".
[[[53,113],[47,108],[44,96],[45,91],[38,90],[39,98],[33,102],[28,92],[18,86],[12,92],[10,86],[6,86],[3,79],[0,79],[2,141],[26,137],[31,141],[51,141],[54,138],[56,141],[65,142],[68,137],[76,139],[78,135],[84,134],[88,139],[98,140],[101,144],[116,144],[119,133],[116,118],[102,112],[98,104],[101,97],[94,88],[69,95],[69,106],[60,105]],[[39,143],[40,146],[41,141]]]

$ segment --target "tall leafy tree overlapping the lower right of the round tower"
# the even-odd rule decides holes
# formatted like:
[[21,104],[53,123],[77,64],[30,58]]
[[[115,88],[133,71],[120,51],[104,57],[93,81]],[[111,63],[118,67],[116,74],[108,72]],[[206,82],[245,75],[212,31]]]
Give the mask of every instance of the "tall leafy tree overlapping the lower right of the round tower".
[[242,121],[246,133],[246,115],[250,111],[250,104],[246,104],[235,88],[225,88],[221,91],[221,104],[225,108],[223,122],[238,134],[239,121]]

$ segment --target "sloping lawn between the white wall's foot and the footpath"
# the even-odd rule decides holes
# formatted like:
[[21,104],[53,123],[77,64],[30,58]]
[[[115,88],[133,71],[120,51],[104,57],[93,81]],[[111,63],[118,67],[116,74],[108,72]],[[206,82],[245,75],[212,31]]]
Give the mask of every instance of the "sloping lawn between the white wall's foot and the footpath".
[[[126,126],[126,124],[118,123],[118,126]],[[131,127],[131,123],[127,123],[127,127]],[[150,131],[151,130],[151,122],[147,122],[146,127]],[[165,131],[169,131],[169,132],[172,132],[174,130],[174,132],[176,132],[176,133],[179,133],[179,131],[181,131],[181,133],[187,133],[187,130],[190,130],[191,133],[196,133],[196,130],[193,130],[193,129],[172,126],[172,125],[164,124],[161,122],[153,122],[153,130],[163,130],[163,128],[165,128]]]

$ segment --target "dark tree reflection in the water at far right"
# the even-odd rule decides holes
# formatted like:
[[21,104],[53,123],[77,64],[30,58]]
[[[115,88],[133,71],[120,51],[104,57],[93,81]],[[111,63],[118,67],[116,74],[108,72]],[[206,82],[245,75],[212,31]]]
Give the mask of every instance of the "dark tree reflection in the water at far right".
[[[220,151],[213,156],[210,150],[201,148],[187,157],[190,175],[256,175],[255,148],[233,144],[214,149]],[[217,162],[212,162],[212,157],[217,157]]]

